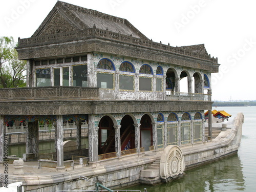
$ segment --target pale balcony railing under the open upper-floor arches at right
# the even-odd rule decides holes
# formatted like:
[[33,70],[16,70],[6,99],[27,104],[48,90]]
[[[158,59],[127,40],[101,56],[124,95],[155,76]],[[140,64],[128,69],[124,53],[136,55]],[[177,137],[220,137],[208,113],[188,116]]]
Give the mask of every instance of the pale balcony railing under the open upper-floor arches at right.
[[211,101],[211,94],[180,93],[180,92],[166,91],[165,98],[166,98],[166,100]]

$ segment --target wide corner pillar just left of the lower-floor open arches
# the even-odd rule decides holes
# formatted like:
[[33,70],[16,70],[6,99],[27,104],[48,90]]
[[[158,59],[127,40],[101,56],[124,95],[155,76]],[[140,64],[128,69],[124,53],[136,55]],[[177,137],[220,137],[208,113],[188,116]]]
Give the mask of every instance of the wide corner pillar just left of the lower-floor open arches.
[[99,160],[98,154],[98,131],[99,127],[95,126],[95,117],[88,115],[88,139],[89,139],[89,161],[96,162]]

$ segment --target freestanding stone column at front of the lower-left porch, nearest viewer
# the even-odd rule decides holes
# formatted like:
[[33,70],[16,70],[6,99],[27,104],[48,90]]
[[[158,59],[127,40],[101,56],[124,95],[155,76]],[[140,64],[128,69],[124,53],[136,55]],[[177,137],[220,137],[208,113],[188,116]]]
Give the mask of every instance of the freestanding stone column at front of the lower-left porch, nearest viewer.
[[57,122],[57,171],[65,169],[63,164],[63,120],[62,115],[56,116]]

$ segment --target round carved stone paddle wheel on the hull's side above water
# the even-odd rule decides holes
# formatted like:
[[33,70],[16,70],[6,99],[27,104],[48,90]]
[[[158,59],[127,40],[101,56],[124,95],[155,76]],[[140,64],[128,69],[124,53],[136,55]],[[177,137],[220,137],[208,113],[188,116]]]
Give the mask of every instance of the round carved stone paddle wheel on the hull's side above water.
[[164,149],[160,160],[160,178],[169,182],[183,176],[185,162],[182,151],[177,145],[169,145]]

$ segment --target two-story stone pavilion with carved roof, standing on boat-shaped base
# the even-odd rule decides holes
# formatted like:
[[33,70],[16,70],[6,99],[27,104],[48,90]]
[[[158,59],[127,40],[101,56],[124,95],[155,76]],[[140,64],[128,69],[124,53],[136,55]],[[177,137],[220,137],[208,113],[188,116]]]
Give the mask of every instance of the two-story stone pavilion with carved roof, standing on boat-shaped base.
[[0,92],[0,161],[10,120],[28,122],[26,153],[35,157],[38,121],[56,122],[59,169],[62,124],[70,119],[88,121],[91,164],[205,140],[204,110],[211,110],[211,73],[219,64],[204,45],[163,45],[126,19],[58,1],[16,50],[27,60],[27,88]]

